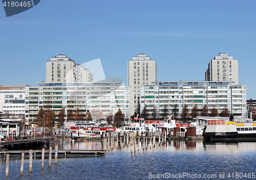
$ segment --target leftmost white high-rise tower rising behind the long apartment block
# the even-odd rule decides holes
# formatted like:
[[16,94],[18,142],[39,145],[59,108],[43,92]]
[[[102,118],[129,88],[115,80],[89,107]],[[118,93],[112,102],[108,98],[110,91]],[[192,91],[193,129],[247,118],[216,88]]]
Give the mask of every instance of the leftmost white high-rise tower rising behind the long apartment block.
[[46,82],[93,82],[93,74],[66,55],[46,62]]

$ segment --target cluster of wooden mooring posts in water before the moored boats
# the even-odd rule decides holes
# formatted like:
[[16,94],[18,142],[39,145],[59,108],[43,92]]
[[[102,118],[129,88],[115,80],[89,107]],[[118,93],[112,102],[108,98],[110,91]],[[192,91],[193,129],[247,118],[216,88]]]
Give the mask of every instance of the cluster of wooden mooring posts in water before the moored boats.
[[[131,145],[131,153],[136,152],[136,142],[138,139],[138,144],[140,144],[140,137],[137,137],[134,133],[126,133],[126,136],[123,136],[123,147],[125,146],[125,137],[126,137],[126,145],[129,146],[129,138],[130,138],[130,145]],[[143,150],[147,149],[147,139],[150,139],[150,148],[156,147],[156,136],[154,137],[143,137]],[[153,142],[152,142],[153,139]],[[119,137],[116,137],[116,148],[118,149],[119,147]],[[159,146],[162,146],[163,144],[166,144],[166,133],[161,134],[159,133],[158,137],[158,144]],[[122,144],[122,137],[120,137],[120,146]],[[134,146],[134,147],[133,147]],[[114,149],[114,137],[108,137],[108,150],[113,150]],[[140,149],[138,148],[138,151]]]

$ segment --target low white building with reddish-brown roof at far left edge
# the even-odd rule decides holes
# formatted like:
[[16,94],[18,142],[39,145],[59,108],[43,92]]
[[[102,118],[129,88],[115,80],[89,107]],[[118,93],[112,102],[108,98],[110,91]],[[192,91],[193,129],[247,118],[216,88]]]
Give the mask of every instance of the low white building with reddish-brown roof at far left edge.
[[25,87],[0,85],[0,114],[4,120],[20,120],[25,116]]

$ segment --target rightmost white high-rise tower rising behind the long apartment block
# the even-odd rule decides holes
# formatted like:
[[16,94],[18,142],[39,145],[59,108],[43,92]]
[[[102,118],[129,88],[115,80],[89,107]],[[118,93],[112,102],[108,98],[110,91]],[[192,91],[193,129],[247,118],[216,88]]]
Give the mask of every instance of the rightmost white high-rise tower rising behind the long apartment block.
[[227,53],[219,53],[211,59],[205,72],[206,81],[231,81],[238,84],[238,60]]

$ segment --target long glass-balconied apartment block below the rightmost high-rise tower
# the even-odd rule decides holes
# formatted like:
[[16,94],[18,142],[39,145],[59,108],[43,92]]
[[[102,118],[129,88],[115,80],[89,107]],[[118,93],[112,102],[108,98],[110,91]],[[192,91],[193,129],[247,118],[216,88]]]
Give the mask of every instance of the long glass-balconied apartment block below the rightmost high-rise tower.
[[164,111],[181,118],[185,105],[189,114],[195,105],[200,110],[206,105],[208,113],[212,108],[221,113],[227,107],[233,116],[246,117],[246,85],[234,85],[230,81],[162,81],[153,84],[141,86],[141,113],[146,107],[149,114],[156,114],[156,118],[162,118]]

